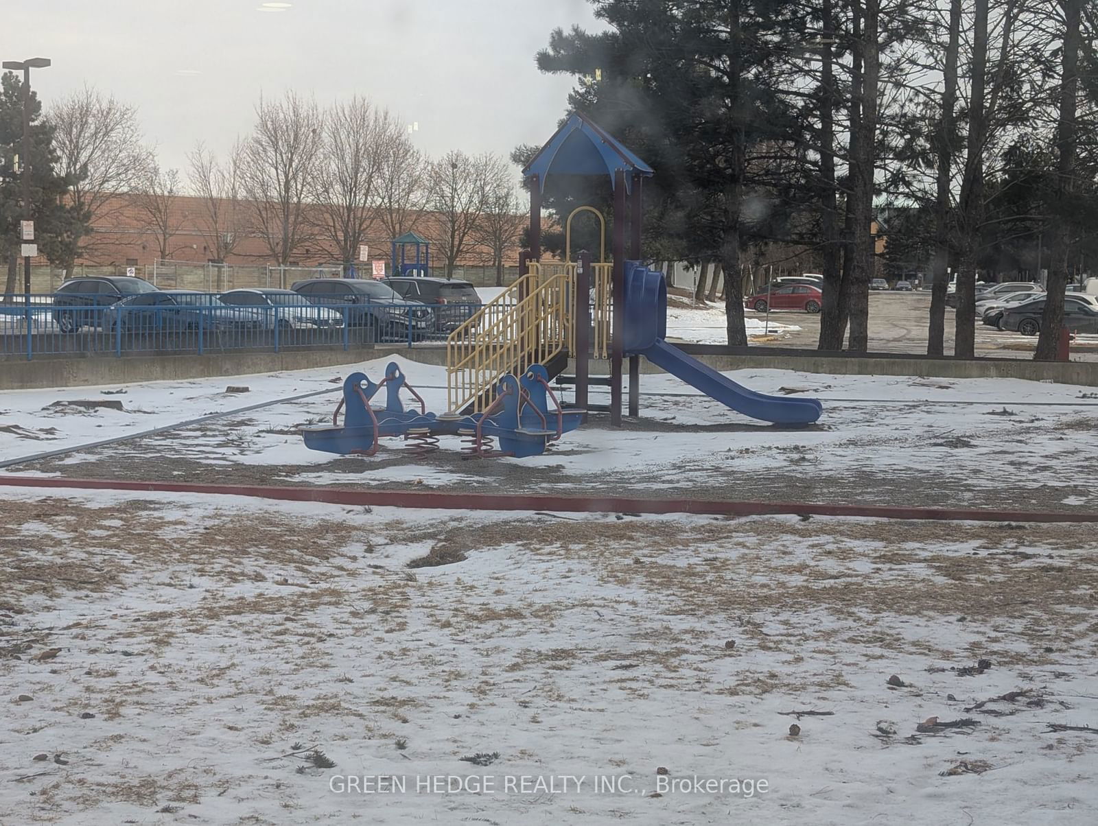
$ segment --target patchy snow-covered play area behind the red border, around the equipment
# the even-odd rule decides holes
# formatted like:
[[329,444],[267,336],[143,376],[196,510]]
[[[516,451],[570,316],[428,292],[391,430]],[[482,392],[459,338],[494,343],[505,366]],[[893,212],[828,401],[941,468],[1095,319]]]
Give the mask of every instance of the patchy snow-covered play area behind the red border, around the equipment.
[[[299,427],[330,420],[339,387],[330,382],[355,368],[380,379],[391,359],[405,368],[428,410],[446,409],[444,368],[412,362],[401,353],[365,365],[287,373],[10,391],[0,393],[0,461],[330,389],[312,399],[8,472],[576,494],[597,484],[624,495],[1098,506],[1093,473],[1098,466],[1098,392],[1012,379],[729,372],[759,392],[822,400],[818,425],[783,429],[738,415],[673,377],[645,375],[641,420],[618,431],[595,416],[534,459],[462,461],[456,437],[442,437],[442,449],[428,461],[403,453],[405,446],[396,439],[383,442],[371,459],[307,450]],[[250,392],[226,393],[229,384]],[[604,390],[593,389],[592,401],[606,401]],[[124,410],[65,403],[74,400],[116,400]],[[54,406],[57,402],[61,404]]]

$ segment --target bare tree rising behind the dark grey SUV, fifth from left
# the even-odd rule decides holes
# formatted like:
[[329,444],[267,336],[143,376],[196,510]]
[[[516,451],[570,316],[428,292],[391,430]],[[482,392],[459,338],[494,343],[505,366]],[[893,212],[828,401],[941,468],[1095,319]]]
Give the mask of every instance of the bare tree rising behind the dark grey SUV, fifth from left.
[[344,266],[356,259],[378,219],[382,170],[403,137],[403,126],[388,110],[357,96],[334,105],[324,119],[313,198],[317,228]]

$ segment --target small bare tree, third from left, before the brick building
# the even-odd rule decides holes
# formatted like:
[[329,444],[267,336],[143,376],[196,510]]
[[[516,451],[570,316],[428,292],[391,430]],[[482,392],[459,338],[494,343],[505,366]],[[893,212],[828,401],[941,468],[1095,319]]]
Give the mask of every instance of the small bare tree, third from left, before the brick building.
[[245,230],[244,205],[240,203],[240,145],[233,147],[222,163],[201,142],[188,154],[191,191],[201,202],[199,230],[211,256],[224,260],[240,243]]

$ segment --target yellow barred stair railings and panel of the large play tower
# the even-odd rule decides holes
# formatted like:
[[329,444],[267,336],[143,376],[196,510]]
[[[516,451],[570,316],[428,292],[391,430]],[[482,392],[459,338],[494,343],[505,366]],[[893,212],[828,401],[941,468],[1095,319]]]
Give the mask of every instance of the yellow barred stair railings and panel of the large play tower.
[[[506,373],[522,373],[575,349],[574,264],[531,263],[528,275],[469,317],[446,342],[447,409],[480,412]],[[612,265],[592,265],[592,355],[606,358],[613,313]]]

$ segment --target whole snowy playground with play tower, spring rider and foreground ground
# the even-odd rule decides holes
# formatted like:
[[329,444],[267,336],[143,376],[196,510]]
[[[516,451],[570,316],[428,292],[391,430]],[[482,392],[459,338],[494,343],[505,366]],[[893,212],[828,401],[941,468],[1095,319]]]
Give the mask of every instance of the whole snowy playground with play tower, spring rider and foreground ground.
[[1093,390],[719,371],[651,174],[445,365],[0,393],[0,824],[1094,821]]

